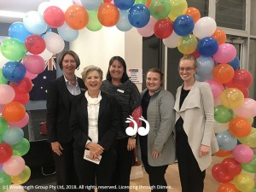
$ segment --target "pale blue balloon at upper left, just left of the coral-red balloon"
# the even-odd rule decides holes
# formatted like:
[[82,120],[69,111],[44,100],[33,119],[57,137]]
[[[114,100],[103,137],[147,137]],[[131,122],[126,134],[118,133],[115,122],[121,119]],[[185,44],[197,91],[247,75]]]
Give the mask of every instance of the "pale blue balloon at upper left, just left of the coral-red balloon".
[[23,17],[23,23],[28,32],[41,35],[47,30],[47,24],[37,11],[29,11]]

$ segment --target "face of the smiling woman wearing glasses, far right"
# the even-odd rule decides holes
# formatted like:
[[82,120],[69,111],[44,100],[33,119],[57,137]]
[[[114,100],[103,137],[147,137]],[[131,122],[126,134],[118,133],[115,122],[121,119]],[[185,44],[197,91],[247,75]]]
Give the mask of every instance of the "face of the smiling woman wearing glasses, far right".
[[183,81],[190,81],[195,79],[195,64],[191,60],[182,60],[179,62],[178,72]]

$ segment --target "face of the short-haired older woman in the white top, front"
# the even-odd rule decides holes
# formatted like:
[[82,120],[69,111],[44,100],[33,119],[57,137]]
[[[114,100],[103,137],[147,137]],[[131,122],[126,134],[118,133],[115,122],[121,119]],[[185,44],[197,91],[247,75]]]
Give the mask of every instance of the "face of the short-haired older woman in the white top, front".
[[89,72],[84,80],[84,84],[87,87],[88,91],[100,90],[102,85],[102,79],[100,77],[100,74],[97,71]]

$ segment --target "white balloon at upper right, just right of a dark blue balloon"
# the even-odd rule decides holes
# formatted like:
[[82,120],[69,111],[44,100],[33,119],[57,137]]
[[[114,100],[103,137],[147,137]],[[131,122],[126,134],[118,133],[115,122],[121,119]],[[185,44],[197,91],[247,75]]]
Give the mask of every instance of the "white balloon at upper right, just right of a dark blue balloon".
[[216,21],[211,17],[202,17],[197,20],[193,30],[193,34],[196,38],[210,37],[217,29]]

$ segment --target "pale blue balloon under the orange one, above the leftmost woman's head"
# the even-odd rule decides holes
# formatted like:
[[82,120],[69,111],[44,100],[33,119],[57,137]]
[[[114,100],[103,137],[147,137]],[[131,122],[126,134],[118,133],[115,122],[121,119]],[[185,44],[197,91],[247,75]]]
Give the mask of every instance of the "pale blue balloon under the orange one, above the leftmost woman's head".
[[63,40],[67,41],[67,42],[74,41],[75,39],[77,39],[79,37],[79,31],[74,30],[74,29],[70,28],[69,26],[67,26],[66,22],[64,22],[64,24],[62,26],[57,28],[57,31],[58,31],[59,35],[61,36],[61,38],[63,38]]

